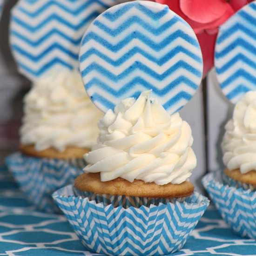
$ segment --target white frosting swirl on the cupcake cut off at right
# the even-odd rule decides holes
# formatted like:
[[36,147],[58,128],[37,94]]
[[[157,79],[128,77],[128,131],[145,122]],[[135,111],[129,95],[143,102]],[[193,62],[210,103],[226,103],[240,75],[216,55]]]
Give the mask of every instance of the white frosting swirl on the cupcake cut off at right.
[[236,104],[233,118],[225,126],[223,162],[241,173],[256,170],[256,92],[250,91]]

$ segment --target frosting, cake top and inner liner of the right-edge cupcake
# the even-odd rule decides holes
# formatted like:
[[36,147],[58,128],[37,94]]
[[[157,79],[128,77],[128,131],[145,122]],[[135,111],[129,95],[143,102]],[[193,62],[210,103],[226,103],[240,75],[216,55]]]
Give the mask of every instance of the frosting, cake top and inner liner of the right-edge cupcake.
[[256,189],[256,91],[249,91],[234,108],[222,140],[224,181]]

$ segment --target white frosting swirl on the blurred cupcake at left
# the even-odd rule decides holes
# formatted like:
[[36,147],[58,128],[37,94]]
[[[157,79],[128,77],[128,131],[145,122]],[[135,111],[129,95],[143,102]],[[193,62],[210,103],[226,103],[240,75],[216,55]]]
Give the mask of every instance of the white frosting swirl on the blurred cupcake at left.
[[97,121],[103,116],[85,92],[78,71],[47,74],[35,82],[24,99],[21,143],[38,151],[67,146],[91,148],[97,140]]

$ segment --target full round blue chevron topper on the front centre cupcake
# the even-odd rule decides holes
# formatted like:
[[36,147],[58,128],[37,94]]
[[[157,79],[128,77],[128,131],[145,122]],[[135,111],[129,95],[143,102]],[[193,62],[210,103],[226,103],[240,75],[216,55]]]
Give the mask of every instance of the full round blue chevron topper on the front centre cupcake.
[[201,82],[202,53],[193,29],[167,6],[134,1],[92,22],[81,42],[80,71],[89,96],[104,112],[152,89],[172,114]]

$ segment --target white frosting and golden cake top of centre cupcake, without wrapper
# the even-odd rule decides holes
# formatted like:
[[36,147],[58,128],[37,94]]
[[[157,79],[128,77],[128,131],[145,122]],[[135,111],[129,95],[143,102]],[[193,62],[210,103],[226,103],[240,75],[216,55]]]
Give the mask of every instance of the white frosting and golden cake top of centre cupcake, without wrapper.
[[196,166],[191,128],[150,96],[121,101],[99,121],[100,135],[85,155],[75,188],[95,194],[179,198],[193,194]]

